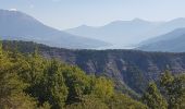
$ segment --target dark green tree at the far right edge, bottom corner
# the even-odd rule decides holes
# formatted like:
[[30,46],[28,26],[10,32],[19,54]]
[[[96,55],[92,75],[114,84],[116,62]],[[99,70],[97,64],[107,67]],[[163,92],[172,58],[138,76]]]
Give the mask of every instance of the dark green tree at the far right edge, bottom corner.
[[169,109],[181,109],[185,104],[185,75],[173,76],[165,71],[160,78],[161,92],[169,102]]

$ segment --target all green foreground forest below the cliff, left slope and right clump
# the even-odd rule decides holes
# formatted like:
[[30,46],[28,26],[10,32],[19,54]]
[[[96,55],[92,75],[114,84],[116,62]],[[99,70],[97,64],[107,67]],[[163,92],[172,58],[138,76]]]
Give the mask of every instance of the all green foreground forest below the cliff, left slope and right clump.
[[185,75],[165,71],[132,98],[106,76],[86,75],[75,65],[21,53],[0,44],[0,109],[184,109]]

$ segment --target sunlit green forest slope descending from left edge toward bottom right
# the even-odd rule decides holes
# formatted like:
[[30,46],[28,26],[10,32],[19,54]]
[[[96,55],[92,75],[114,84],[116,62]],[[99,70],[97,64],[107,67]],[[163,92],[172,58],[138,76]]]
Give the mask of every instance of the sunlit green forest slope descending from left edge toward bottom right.
[[146,109],[103,76],[0,46],[0,109]]

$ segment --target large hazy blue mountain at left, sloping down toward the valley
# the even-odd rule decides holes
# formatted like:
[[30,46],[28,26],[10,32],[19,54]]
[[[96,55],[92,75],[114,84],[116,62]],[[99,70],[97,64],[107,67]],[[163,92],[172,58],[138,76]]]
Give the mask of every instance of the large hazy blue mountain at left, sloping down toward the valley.
[[8,10],[0,10],[0,36],[3,39],[34,40],[63,48],[97,48],[109,45],[58,31],[25,13]]

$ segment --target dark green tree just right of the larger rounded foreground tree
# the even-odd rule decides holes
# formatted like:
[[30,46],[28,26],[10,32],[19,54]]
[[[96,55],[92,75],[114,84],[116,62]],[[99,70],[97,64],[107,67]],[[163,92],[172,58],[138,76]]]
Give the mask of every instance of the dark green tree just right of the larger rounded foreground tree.
[[81,102],[82,97],[88,94],[88,76],[76,66],[63,66],[65,85],[69,87],[66,104]]

